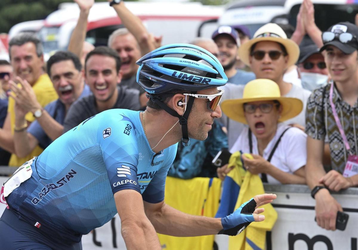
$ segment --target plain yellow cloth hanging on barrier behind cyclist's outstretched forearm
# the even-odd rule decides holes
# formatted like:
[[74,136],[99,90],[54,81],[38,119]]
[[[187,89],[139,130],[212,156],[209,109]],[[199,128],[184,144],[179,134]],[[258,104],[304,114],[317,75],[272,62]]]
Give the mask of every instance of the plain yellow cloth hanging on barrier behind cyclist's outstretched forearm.
[[[183,180],[166,177],[166,204],[191,215],[214,217],[219,207],[221,180],[213,178],[209,188],[210,178],[196,177]],[[202,250],[212,249],[214,235],[197,237],[174,237],[158,234],[162,249],[166,250]]]

